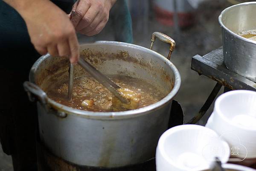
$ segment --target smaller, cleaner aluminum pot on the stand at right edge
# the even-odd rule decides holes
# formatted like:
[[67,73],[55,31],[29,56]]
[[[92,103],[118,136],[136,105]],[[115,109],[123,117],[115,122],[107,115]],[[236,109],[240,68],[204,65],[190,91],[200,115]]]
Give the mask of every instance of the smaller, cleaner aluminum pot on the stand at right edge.
[[240,3],[221,12],[223,55],[227,68],[256,82],[256,41],[237,33],[256,29],[256,2]]

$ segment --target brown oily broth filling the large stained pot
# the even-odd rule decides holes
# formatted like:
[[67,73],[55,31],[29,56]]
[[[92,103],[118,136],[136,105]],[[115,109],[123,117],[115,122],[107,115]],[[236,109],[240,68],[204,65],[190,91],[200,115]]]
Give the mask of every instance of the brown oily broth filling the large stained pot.
[[[132,90],[140,96],[136,108],[154,104],[165,97],[157,87],[139,78],[132,78],[122,75],[108,75],[123,90]],[[127,108],[122,105],[115,105],[113,95],[91,76],[84,76],[74,79],[73,99],[67,100],[68,82],[56,85],[52,90],[47,91],[50,99],[69,107],[95,112],[125,111]],[[115,103],[115,102],[114,102]]]

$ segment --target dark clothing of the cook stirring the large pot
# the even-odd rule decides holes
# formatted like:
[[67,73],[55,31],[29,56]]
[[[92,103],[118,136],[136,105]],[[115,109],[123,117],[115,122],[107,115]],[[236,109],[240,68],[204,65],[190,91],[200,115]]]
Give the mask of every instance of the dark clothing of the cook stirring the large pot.
[[[73,0],[52,0],[65,12],[72,9]],[[35,9],[36,10],[36,9]],[[117,0],[111,9],[116,41],[132,42],[131,16],[124,0]],[[30,103],[23,82],[40,55],[35,51],[26,24],[15,9],[0,0],[0,142],[3,151],[12,155],[15,171],[37,169],[35,134],[37,110]]]

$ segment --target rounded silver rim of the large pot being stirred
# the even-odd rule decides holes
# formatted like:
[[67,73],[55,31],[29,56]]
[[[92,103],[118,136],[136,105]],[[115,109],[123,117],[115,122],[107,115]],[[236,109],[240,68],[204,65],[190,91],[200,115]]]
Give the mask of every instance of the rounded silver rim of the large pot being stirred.
[[[87,110],[80,110],[80,109],[74,109],[72,107],[68,107],[65,106],[63,104],[60,104],[56,101],[53,101],[52,99],[50,99],[49,97],[47,97],[47,103],[49,103],[53,108],[55,108],[56,110],[59,111],[63,111],[67,114],[76,114],[79,116],[85,116],[91,119],[120,119],[120,118],[131,118],[134,116],[141,116],[143,113],[146,114],[148,111],[151,110],[155,110],[157,108],[162,107],[164,104],[168,103],[169,101],[172,100],[172,98],[177,94],[178,90],[180,89],[180,84],[181,84],[181,78],[180,78],[180,73],[177,70],[177,68],[175,67],[174,64],[172,64],[171,61],[169,61],[167,58],[165,58],[163,55],[145,48],[143,46],[138,46],[138,45],[134,45],[131,43],[123,43],[123,42],[117,42],[117,41],[96,41],[95,43],[84,43],[84,44],[80,44],[80,46],[82,45],[86,45],[86,44],[93,44],[93,45],[104,45],[104,44],[108,44],[108,45],[118,45],[118,46],[131,46],[137,49],[142,49],[145,51],[150,51],[151,53],[154,54],[155,57],[160,58],[163,62],[165,62],[166,65],[168,65],[175,76],[175,83],[174,83],[174,87],[171,90],[171,92],[165,96],[163,99],[161,99],[160,101],[151,104],[149,106],[146,107],[142,107],[136,110],[128,110],[128,111],[121,111],[121,112],[93,112],[93,111],[87,111]],[[48,57],[50,57],[51,55],[47,54],[47,55],[43,55],[41,56],[32,66],[30,73],[29,73],[29,81],[31,81],[32,83],[35,84],[35,71],[37,70],[37,68],[40,66],[40,64]]]

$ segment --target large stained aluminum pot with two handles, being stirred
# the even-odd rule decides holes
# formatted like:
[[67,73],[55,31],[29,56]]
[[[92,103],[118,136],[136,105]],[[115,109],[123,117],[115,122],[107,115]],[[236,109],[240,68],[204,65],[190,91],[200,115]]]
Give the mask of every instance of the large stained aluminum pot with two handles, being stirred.
[[[174,49],[171,38],[155,32],[151,41],[156,37]],[[180,88],[176,67],[159,53],[134,44],[99,41],[83,44],[80,49],[84,59],[101,72],[142,78],[163,90],[166,97],[124,112],[90,112],[64,106],[49,99],[44,90],[67,80],[69,61],[44,55],[31,69],[31,82],[24,84],[30,99],[39,99],[41,141],[57,157],[77,165],[119,167],[153,158],[157,141],[168,128],[171,101]],[[84,73],[75,66],[75,77]]]

